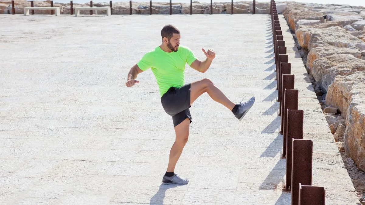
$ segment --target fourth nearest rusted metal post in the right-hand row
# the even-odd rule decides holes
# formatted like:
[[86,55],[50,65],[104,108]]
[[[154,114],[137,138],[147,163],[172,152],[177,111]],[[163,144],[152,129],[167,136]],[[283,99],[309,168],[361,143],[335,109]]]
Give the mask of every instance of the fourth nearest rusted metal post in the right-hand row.
[[288,109],[296,110],[298,109],[298,90],[296,89],[285,89],[284,90],[284,109],[283,109],[283,117],[281,119],[284,123],[283,129],[283,154],[281,155],[282,158],[285,158],[287,155],[287,112]]

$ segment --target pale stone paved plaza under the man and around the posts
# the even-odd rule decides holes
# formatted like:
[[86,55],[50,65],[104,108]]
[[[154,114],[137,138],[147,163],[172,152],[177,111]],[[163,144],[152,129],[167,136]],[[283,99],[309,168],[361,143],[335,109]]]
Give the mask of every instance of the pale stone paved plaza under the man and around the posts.
[[[175,135],[152,71],[125,86],[166,24],[198,58],[201,48],[216,51],[206,73],[187,65],[185,82],[210,78],[236,103],[256,97],[242,121],[206,93],[196,100],[175,169],[190,180],[183,186],[161,184]],[[250,14],[1,15],[0,204],[290,204],[270,25],[269,15]],[[356,204],[303,62],[284,35],[304,136],[314,140],[313,184],[326,188],[326,204]]]

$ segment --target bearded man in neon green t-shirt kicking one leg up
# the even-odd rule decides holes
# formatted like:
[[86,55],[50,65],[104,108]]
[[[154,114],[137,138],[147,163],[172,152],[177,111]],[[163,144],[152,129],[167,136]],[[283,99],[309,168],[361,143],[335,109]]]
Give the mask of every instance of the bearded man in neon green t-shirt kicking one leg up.
[[188,47],[180,45],[180,31],[170,24],[162,28],[161,37],[161,45],[143,55],[142,59],[130,69],[126,86],[131,87],[138,83],[139,81],[135,80],[137,75],[151,68],[160,89],[162,107],[172,116],[176,134],[162,183],[187,184],[189,180],[174,174],[174,169],[188,141],[189,125],[192,122],[189,108],[192,103],[207,92],[214,101],[227,107],[237,119],[241,120],[254,104],[255,97],[247,102],[234,104],[208,78],[184,85],[186,63],[204,73],[215,58],[215,53],[213,50],[201,49],[207,58],[200,61]]

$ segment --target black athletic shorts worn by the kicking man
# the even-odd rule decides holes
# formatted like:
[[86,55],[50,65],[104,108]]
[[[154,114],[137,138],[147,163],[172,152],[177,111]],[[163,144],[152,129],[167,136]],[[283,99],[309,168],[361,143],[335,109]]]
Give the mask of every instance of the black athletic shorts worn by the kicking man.
[[172,116],[174,127],[189,118],[191,123],[190,83],[180,88],[171,87],[161,97],[161,104],[165,112]]

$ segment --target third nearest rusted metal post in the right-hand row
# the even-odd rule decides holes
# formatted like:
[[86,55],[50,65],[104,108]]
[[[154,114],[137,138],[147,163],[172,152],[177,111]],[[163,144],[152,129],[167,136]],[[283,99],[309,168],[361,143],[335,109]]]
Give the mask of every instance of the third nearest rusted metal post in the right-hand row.
[[285,189],[289,190],[292,185],[292,141],[293,139],[303,139],[303,120],[304,112],[302,110],[287,111],[287,174],[285,180]]

